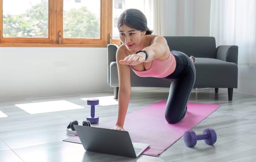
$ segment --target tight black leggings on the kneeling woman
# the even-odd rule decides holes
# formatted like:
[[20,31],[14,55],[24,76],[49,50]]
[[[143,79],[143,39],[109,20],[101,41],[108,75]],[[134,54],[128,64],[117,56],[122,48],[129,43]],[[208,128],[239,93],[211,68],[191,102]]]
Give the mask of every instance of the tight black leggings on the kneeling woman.
[[175,124],[184,118],[187,112],[189,95],[195,84],[195,66],[189,56],[172,50],[176,60],[175,71],[165,77],[171,79],[170,92],[165,107],[165,119]]

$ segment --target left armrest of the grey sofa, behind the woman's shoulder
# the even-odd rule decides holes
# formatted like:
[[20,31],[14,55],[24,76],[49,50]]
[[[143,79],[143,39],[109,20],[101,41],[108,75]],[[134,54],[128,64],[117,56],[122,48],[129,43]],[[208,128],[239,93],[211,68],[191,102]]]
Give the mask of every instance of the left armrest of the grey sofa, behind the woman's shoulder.
[[110,84],[110,63],[115,61],[116,50],[118,49],[116,44],[107,45],[107,59],[108,59],[108,85]]

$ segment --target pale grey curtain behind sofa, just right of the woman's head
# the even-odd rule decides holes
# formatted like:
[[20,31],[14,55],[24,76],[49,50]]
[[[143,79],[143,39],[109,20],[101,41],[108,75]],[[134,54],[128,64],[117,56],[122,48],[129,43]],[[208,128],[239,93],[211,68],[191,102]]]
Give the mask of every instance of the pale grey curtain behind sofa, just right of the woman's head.
[[193,0],[145,0],[150,4],[148,23],[160,36],[193,35]]

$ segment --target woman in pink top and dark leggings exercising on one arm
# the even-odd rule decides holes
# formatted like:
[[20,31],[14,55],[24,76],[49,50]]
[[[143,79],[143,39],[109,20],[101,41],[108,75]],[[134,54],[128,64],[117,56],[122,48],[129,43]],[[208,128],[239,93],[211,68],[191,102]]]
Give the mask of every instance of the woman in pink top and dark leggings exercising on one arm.
[[172,80],[165,118],[170,124],[179,122],[186,114],[189,95],[195,83],[195,57],[170,51],[166,39],[152,34],[145,15],[137,9],[127,9],[121,13],[118,29],[122,44],[116,54],[119,92],[115,129],[124,130],[131,94],[130,69],[141,77]]

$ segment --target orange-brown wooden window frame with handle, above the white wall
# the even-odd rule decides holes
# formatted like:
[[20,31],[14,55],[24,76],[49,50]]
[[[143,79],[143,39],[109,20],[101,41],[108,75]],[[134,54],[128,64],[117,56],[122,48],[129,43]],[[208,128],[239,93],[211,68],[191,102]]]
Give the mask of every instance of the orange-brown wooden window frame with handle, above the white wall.
[[[63,0],[48,0],[48,38],[3,37],[3,0],[0,0],[0,47],[107,47],[120,44],[112,35],[113,0],[101,0],[100,38],[63,38]],[[60,37],[59,37],[60,36]]]

